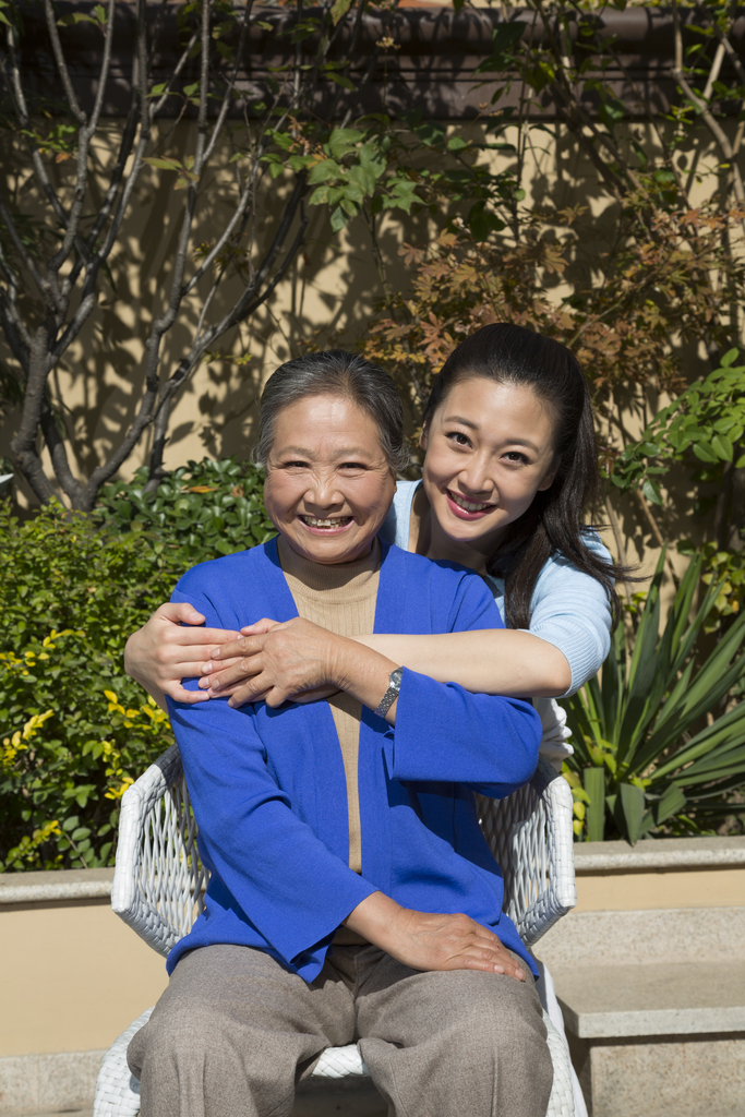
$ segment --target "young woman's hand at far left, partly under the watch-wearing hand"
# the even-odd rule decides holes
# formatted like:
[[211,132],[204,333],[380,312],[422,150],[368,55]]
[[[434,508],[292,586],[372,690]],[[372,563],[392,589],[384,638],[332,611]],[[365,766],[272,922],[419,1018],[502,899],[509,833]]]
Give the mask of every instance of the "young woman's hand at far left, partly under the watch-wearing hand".
[[124,670],[151,694],[165,694],[175,701],[204,701],[209,695],[184,689],[181,679],[201,675],[202,663],[216,646],[233,641],[239,633],[192,627],[203,623],[203,615],[193,605],[161,605],[127,640]]

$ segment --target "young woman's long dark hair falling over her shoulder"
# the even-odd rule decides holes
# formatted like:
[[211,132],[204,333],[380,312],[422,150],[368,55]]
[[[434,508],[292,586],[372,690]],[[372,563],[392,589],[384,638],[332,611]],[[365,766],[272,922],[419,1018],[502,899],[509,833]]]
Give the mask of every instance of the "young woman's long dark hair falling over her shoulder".
[[535,583],[546,561],[557,553],[601,583],[617,624],[620,602],[613,580],[629,573],[590,550],[582,523],[596,499],[599,470],[590,391],[579,361],[552,337],[523,326],[507,322],[483,326],[453,350],[434,379],[424,427],[457,383],[477,376],[532,388],[553,416],[561,459],[551,487],[536,493],[487,563],[490,574],[505,579],[506,623],[529,628]]

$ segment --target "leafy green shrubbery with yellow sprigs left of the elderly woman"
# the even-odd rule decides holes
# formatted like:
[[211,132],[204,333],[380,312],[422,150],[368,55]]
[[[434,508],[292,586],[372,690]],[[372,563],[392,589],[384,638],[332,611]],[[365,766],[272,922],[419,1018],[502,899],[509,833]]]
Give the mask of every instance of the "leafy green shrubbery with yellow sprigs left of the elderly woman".
[[107,486],[89,516],[20,523],[0,503],[0,871],[113,863],[120,799],[173,741],[124,675],[126,639],[189,566],[274,534],[254,467],[144,480]]

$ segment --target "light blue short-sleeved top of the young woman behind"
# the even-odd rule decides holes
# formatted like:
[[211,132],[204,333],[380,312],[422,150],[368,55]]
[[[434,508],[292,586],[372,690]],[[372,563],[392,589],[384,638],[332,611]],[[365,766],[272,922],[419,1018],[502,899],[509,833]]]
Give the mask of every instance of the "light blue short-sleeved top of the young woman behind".
[[[391,510],[380,529],[381,538],[409,550],[411,504],[421,481],[398,481]],[[611,555],[596,532],[588,532],[588,546],[606,562]],[[504,579],[489,577],[503,618]],[[507,621],[505,620],[505,624]],[[573,566],[569,558],[552,556],[538,574],[531,600],[531,629],[566,657],[572,685],[561,697],[573,695],[583,682],[598,674],[611,647],[611,608],[605,590],[589,574]]]

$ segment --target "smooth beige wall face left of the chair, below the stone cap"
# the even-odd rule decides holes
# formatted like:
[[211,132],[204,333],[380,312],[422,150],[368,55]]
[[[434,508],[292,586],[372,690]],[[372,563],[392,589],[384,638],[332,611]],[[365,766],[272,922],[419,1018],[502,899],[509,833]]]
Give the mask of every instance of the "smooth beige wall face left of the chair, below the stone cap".
[[0,906],[0,1057],[107,1048],[168,983],[106,899]]

